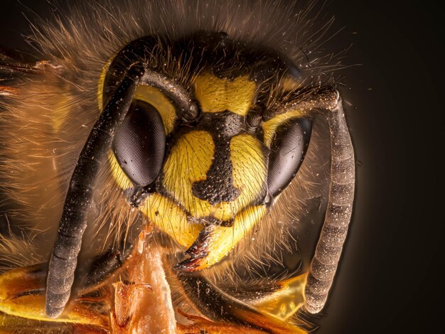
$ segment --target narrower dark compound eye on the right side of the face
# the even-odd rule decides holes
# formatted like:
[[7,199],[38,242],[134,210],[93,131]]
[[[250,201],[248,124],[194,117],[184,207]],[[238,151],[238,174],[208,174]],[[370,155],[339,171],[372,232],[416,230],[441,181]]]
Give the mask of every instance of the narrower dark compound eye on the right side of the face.
[[277,196],[299,170],[311,139],[310,119],[294,118],[278,126],[269,154],[267,186]]

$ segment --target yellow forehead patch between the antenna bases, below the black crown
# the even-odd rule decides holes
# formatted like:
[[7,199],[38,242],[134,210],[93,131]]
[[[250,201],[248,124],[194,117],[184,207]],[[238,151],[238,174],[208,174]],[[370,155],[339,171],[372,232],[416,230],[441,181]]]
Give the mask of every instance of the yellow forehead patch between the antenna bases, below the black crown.
[[195,78],[195,97],[203,112],[228,110],[245,116],[254,106],[256,90],[257,85],[247,76],[230,81],[207,73]]

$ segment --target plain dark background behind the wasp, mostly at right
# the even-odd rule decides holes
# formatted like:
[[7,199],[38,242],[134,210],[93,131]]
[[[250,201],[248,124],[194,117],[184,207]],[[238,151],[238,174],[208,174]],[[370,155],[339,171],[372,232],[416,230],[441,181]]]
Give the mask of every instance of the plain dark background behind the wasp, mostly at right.
[[[0,45],[23,48],[23,4],[1,1]],[[319,334],[445,333],[444,21],[439,1],[329,1],[325,48],[352,47],[342,89],[358,158],[350,235]],[[27,14],[27,16],[29,16]]]

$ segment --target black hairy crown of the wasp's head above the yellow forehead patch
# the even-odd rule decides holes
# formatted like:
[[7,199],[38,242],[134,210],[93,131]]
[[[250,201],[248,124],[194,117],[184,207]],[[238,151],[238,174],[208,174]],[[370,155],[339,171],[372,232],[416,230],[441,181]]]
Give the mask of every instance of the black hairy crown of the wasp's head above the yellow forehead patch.
[[[116,90],[123,73],[133,63],[146,63],[150,70],[168,75],[164,62],[151,57],[155,48],[155,58],[175,59],[189,68],[190,75],[208,70],[217,77],[232,79],[248,75],[250,80],[264,83],[283,75],[295,80],[301,77],[299,68],[277,50],[234,41],[224,32],[199,31],[188,36],[178,36],[176,41],[166,36],[145,36],[129,43],[109,65],[104,80],[104,104]],[[267,89],[267,85],[264,88]],[[262,97],[259,96],[258,99]]]

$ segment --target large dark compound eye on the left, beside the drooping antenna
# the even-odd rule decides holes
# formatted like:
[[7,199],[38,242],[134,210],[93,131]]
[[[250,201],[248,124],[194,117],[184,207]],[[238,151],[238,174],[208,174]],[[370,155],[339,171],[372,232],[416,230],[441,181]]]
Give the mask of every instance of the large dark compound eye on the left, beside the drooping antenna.
[[161,171],[165,150],[161,115],[149,103],[133,102],[113,141],[122,170],[136,185],[149,185]]

